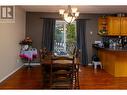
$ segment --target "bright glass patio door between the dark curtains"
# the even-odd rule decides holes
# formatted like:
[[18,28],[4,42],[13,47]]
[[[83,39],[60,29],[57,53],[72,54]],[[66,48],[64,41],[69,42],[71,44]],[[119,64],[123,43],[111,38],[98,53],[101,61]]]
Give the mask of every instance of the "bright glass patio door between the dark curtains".
[[54,38],[55,55],[72,55],[76,44],[76,22],[67,24],[57,20]]

